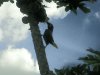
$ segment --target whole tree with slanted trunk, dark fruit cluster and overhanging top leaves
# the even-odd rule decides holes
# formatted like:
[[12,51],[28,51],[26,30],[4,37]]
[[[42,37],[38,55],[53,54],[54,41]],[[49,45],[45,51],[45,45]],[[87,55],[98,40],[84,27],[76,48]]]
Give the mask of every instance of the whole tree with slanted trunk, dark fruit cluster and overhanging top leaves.
[[[0,0],[0,6],[3,2],[14,2],[13,0]],[[48,17],[42,5],[43,0],[16,0],[17,7],[20,8],[20,11],[27,16],[22,18],[24,24],[29,23],[30,31],[32,34],[32,39],[34,43],[34,48],[39,64],[40,74],[41,75],[54,75],[50,69],[46,58],[45,47],[43,45],[42,36],[39,30],[39,22],[47,22]],[[95,0],[45,0],[47,2],[55,1],[58,7],[65,6],[65,10],[71,10],[76,13],[77,8],[79,7],[84,13],[90,12],[90,9],[85,7],[84,1],[93,2]],[[65,2],[64,2],[65,1]],[[74,1],[74,3],[73,3]],[[64,4],[65,3],[65,4]]]

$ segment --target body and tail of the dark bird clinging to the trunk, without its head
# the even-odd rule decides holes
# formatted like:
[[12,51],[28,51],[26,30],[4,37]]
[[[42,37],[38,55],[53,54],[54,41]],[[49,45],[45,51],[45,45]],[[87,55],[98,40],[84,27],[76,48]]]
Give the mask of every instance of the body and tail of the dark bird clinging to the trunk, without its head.
[[58,46],[56,45],[56,43],[53,40],[52,31],[50,29],[45,30],[43,38],[44,38],[44,41],[46,43],[46,46],[48,44],[52,44],[54,47],[58,48]]

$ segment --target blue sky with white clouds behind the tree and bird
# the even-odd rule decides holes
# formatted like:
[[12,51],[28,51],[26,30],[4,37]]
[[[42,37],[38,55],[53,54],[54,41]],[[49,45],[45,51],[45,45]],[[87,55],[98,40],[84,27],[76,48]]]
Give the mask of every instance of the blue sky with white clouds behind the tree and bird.
[[[81,63],[79,57],[87,54],[86,49],[100,49],[100,1],[87,4],[91,13],[78,14],[57,9],[55,3],[48,4],[46,12],[54,25],[53,37],[58,49],[46,47],[50,69]],[[16,3],[4,3],[0,7],[0,75],[39,75],[34,45],[28,24],[22,23],[22,14]],[[41,34],[47,28],[39,24]]]

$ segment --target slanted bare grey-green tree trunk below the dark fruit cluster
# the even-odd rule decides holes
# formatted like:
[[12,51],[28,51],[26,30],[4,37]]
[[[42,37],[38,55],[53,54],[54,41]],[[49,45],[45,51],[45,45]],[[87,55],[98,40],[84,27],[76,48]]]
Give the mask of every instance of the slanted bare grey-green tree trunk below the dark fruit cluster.
[[51,75],[38,23],[30,23],[31,35],[41,75]]

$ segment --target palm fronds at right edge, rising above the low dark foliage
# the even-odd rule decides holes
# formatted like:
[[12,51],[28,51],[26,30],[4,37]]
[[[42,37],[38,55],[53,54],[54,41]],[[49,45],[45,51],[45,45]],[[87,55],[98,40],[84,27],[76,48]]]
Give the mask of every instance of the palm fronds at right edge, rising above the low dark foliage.
[[94,50],[92,48],[87,49],[87,51],[89,51],[90,54],[79,59],[84,61],[88,65],[92,65],[95,70],[100,70],[100,51]]

